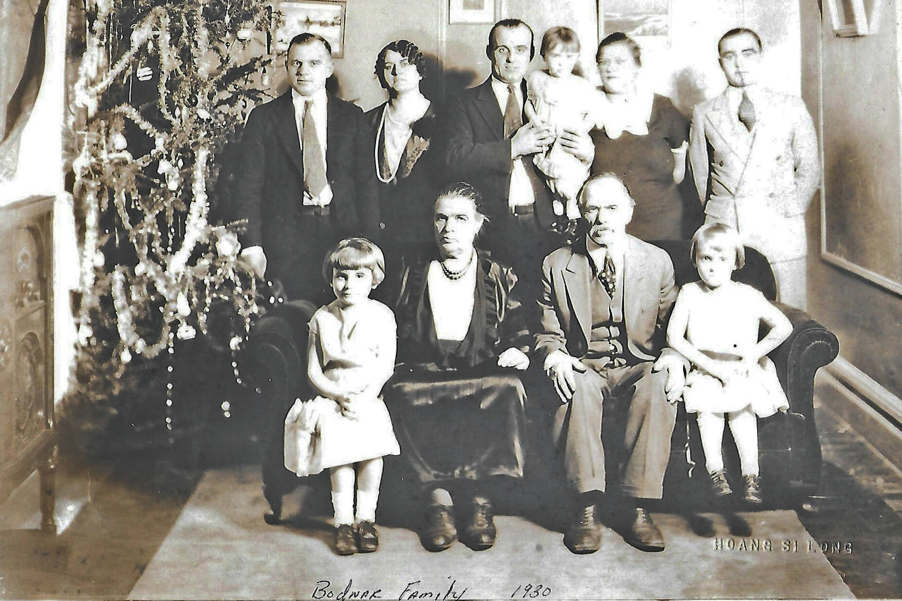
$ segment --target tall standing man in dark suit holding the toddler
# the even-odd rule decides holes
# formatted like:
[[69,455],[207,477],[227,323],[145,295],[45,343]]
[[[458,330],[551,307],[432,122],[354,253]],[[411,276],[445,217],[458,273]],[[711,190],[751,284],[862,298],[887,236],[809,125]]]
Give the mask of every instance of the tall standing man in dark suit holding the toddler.
[[489,218],[483,246],[516,269],[535,293],[538,266],[553,248],[550,228],[556,217],[530,160],[554,142],[554,132],[523,124],[523,77],[535,54],[532,30],[518,19],[499,21],[485,53],[492,61],[491,77],[448,104],[448,175],[482,193]]

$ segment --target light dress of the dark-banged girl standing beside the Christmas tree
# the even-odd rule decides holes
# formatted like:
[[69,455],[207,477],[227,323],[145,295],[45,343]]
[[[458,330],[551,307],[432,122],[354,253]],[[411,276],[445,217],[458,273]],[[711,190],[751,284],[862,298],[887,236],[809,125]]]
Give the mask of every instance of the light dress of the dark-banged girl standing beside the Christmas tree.
[[[355,323],[345,323],[337,301],[310,319],[323,358],[323,374],[335,382],[373,380],[379,357],[394,350],[397,326],[389,307],[373,299],[359,307]],[[323,469],[398,455],[391,417],[380,396],[361,399],[354,419],[341,414],[335,400],[298,399],[285,418],[285,467],[298,476]]]

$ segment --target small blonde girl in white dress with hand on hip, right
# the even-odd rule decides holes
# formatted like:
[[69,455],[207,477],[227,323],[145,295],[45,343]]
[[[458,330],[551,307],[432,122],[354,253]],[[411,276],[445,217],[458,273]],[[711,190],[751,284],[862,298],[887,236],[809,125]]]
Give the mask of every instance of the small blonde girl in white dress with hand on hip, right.
[[[715,496],[732,493],[723,469],[723,422],[739,451],[745,501],[761,503],[758,417],[789,408],[777,370],[768,359],[792,333],[786,315],[753,287],[732,281],[745,263],[739,234],[729,225],[704,225],[692,239],[701,281],[676,297],[667,343],[692,363],[686,376],[686,411],[698,414],[705,467]],[[770,331],[759,340],[759,324]]]

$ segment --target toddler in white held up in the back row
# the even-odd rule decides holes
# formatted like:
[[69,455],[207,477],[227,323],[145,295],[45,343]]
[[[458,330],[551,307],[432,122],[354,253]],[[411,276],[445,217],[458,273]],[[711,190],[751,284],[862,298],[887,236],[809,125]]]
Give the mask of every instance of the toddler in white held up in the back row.
[[561,147],[564,130],[588,133],[598,123],[597,107],[601,94],[583,77],[573,72],[579,59],[579,38],[568,27],[552,27],[542,36],[539,54],[547,68],[534,71],[526,79],[527,100],[524,110],[529,121],[545,123],[557,134],[545,152],[533,158],[554,193],[555,214],[568,220],[579,217],[576,196],[589,177],[589,165]]

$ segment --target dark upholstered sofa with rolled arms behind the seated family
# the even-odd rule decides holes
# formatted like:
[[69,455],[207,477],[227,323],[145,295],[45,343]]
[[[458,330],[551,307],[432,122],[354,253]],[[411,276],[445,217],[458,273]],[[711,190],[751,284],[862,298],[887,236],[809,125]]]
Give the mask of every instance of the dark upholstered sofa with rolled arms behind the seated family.
[[[673,260],[677,285],[682,286],[698,279],[695,265],[689,258],[688,241],[654,243],[667,250]],[[772,301],[777,296],[773,272],[768,261],[757,250],[746,250],[745,267],[738,270],[734,278],[758,288]],[[262,397],[269,420],[266,425],[262,467],[263,495],[272,508],[267,521],[276,523],[281,514],[282,496],[299,483],[299,478],[282,465],[282,428],[294,399],[309,393],[307,323],[316,307],[306,301],[286,302],[278,293],[273,293],[270,300],[270,310],[253,325],[241,361],[245,376]],[[815,373],[836,357],[839,342],[833,332],[815,322],[804,311],[779,303],[776,305],[793,324],[793,332],[787,341],[770,354],[777,366],[780,382],[787,392],[790,413],[759,420],[761,477],[766,487],[768,505],[794,506],[806,496],[814,495],[820,484],[821,448],[813,410]],[[536,378],[533,374],[532,379],[538,382],[542,378]],[[532,387],[530,395],[543,395],[544,390],[541,386]],[[548,416],[548,398],[530,396],[530,405],[533,404],[531,401],[535,401],[535,405],[539,407],[538,413]],[[539,416],[538,419],[530,420],[530,423],[541,425],[545,421]],[[730,445],[732,441],[729,429],[726,432],[725,443]],[[542,434],[538,433],[533,440],[542,439]],[[686,460],[687,446],[692,460],[697,464],[693,469],[694,478],[686,478],[690,466]],[[726,456],[734,454],[735,451],[728,452]],[[534,450],[529,455],[546,456],[548,459],[548,452],[541,449]],[[680,407],[671,442],[665,498],[685,496],[686,487],[695,491],[707,487],[707,477],[704,456],[698,443],[695,416],[687,415]]]

